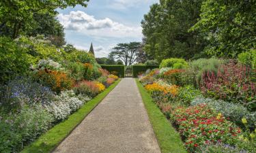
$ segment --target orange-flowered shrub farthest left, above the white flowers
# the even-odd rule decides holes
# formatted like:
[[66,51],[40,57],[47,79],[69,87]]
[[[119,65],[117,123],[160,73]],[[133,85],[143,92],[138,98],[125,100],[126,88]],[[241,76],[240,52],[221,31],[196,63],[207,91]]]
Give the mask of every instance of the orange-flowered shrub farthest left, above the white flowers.
[[62,90],[70,90],[74,84],[71,78],[62,71],[51,71],[45,69],[35,74],[35,79],[39,80],[45,86],[49,86],[53,91],[59,93]]

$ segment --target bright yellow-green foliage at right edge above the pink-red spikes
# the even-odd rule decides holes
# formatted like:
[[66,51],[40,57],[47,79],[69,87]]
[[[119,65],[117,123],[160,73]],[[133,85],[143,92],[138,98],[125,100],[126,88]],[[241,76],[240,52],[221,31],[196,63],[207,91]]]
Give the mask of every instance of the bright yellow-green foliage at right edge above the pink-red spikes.
[[256,69],[256,50],[242,52],[238,55],[238,61],[248,67]]

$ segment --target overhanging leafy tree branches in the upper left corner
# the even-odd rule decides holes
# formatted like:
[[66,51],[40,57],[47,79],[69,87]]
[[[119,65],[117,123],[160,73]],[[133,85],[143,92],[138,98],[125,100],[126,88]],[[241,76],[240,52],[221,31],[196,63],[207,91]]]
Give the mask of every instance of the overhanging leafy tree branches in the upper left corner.
[[57,8],[74,7],[77,4],[86,7],[87,1],[89,0],[2,0],[0,1],[1,35],[16,38],[35,22],[34,14],[56,15]]

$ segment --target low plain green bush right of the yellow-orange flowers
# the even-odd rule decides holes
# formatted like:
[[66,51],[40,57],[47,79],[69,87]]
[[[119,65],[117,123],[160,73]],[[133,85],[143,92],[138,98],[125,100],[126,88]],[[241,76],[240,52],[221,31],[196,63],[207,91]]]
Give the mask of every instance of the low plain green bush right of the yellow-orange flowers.
[[177,94],[177,100],[184,105],[190,105],[196,97],[201,96],[201,91],[193,88],[193,86],[184,86],[179,88],[179,93]]

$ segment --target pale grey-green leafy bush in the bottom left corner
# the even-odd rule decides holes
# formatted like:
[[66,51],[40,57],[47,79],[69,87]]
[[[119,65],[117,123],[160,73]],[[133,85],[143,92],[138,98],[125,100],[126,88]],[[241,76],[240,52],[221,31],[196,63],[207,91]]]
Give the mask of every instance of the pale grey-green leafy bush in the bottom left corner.
[[18,114],[0,120],[0,152],[18,152],[30,141],[45,133],[53,118],[42,106],[23,107]]

